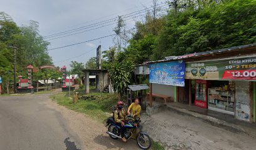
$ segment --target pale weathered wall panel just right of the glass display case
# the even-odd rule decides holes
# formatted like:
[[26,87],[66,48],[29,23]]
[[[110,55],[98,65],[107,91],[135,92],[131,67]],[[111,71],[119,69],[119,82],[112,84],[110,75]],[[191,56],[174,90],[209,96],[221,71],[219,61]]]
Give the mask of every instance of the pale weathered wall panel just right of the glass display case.
[[235,117],[250,121],[250,81],[235,81]]

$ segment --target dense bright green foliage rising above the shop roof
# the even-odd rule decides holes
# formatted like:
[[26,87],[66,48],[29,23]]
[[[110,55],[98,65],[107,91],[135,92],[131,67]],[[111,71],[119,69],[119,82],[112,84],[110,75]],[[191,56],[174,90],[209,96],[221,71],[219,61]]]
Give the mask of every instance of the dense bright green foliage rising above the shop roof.
[[152,60],[256,42],[256,1],[209,2],[168,14]]

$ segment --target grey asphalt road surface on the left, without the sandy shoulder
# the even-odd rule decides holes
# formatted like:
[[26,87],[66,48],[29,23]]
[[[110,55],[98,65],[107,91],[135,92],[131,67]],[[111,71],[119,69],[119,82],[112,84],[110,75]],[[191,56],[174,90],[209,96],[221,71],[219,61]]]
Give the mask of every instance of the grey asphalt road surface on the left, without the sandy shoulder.
[[0,96],[0,149],[82,149],[60,112],[47,106],[48,96]]

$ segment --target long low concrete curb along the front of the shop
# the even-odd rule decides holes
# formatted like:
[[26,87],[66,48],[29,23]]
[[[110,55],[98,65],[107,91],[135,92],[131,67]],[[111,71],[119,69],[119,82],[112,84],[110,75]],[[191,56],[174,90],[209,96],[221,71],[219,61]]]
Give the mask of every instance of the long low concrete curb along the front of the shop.
[[193,111],[188,111],[187,109],[176,108],[174,106],[166,106],[166,109],[168,109],[169,111],[175,111],[177,113],[185,114],[185,115],[188,115],[188,116],[193,116],[195,118],[206,121],[206,122],[212,124],[213,126],[218,126],[220,128],[226,129],[228,131],[248,134],[240,126],[237,126],[237,125],[231,124],[231,123],[227,123],[226,121],[222,121],[220,119],[213,118],[211,116],[206,116],[204,114],[199,114],[199,113],[195,113]]

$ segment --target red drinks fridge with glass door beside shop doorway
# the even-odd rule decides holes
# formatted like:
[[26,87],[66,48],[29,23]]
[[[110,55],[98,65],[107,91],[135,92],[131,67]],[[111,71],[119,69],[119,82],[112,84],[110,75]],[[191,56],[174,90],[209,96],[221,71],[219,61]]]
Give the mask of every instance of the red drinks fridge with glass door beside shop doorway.
[[208,82],[205,80],[196,80],[195,86],[195,106],[207,108]]

